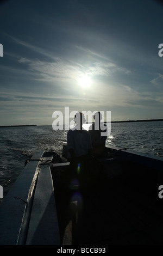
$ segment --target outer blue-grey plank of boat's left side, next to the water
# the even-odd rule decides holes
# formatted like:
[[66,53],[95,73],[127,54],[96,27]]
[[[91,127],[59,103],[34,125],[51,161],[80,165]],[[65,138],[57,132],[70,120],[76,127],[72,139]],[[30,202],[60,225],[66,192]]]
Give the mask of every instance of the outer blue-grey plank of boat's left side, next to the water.
[[[43,152],[36,153],[32,159],[40,159]],[[17,245],[25,239],[26,231],[20,236],[24,223],[32,208],[36,180],[39,173],[39,161],[30,161],[22,170],[0,206],[0,245]]]

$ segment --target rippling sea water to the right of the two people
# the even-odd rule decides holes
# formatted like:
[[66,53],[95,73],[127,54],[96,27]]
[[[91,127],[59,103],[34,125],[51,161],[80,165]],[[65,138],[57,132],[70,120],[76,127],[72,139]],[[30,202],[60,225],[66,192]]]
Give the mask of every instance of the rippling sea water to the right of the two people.
[[112,123],[106,144],[163,156],[163,121]]

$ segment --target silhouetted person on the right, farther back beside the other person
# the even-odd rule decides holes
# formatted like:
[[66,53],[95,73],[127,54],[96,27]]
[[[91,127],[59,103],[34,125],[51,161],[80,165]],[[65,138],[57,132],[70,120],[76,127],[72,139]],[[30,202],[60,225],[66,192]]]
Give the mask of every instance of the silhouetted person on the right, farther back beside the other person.
[[89,127],[89,133],[92,141],[92,154],[96,157],[106,155],[105,141],[107,138],[107,126],[101,122],[102,114],[96,112],[93,116],[95,123]]

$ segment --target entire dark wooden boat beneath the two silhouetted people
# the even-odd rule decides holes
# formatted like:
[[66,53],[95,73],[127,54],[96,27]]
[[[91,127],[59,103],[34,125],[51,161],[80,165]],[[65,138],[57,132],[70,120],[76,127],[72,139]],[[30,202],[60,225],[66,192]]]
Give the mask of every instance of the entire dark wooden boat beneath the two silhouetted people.
[[161,157],[108,151],[83,187],[56,153],[33,156],[1,204],[0,244],[162,245]]

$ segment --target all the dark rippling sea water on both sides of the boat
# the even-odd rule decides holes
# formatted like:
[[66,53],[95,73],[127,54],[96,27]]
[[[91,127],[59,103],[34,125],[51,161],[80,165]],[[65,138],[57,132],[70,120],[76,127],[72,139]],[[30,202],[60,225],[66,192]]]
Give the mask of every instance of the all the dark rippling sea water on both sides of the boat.
[[[88,129],[89,125],[85,125]],[[0,128],[0,185],[3,196],[36,152],[56,151],[60,156],[67,131],[54,131],[51,125]],[[163,121],[112,123],[106,145],[163,156]],[[1,199],[2,200],[2,199]]]

